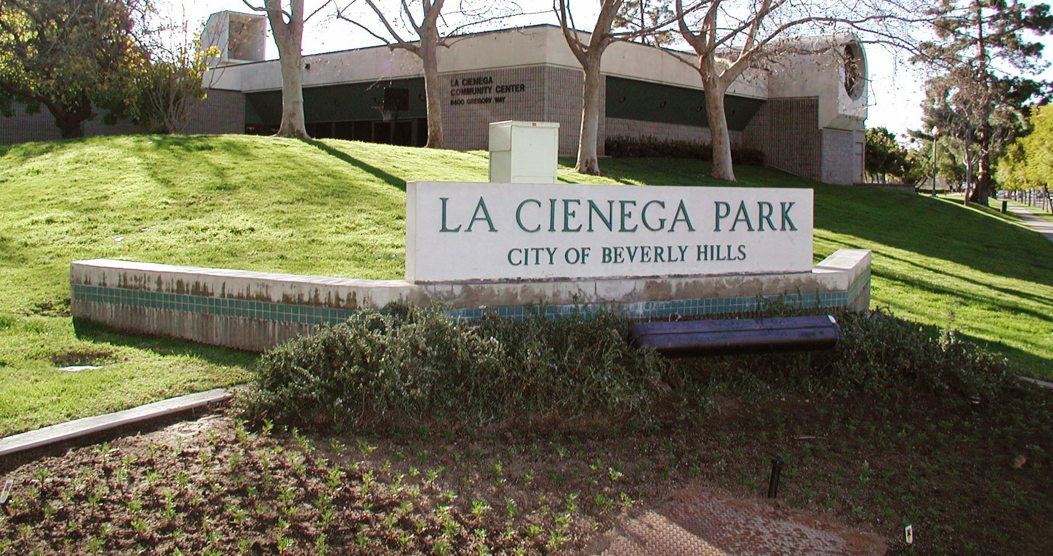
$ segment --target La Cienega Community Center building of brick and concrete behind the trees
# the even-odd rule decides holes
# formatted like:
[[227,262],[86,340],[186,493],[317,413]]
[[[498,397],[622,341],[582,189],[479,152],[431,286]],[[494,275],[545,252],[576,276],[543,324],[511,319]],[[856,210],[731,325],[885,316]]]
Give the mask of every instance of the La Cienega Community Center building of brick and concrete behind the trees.
[[[281,70],[264,59],[266,18],[221,12],[205,37],[219,47],[208,98],[191,133],[272,134],[281,119]],[[734,146],[763,153],[766,164],[832,183],[863,180],[867,65],[852,35],[815,37],[729,88],[726,113]],[[819,46],[819,47],[816,47]],[[819,54],[806,54],[821,51]],[[708,142],[695,56],[643,44],[612,44],[602,58],[599,153],[615,137],[651,136]],[[503,120],[559,123],[559,154],[573,156],[581,119],[582,72],[556,25],[458,37],[439,51],[445,146],[485,150],[489,124]],[[403,110],[382,114],[385,95]],[[406,102],[408,100],[408,102]],[[420,60],[373,46],[303,57],[307,133],[406,145],[428,135]],[[49,115],[0,119],[0,141],[57,138]],[[19,121],[21,120],[21,121]],[[97,122],[85,133],[106,133]],[[123,127],[128,127],[124,124]],[[115,133],[128,133],[121,127]],[[39,137],[38,137],[39,136]]]

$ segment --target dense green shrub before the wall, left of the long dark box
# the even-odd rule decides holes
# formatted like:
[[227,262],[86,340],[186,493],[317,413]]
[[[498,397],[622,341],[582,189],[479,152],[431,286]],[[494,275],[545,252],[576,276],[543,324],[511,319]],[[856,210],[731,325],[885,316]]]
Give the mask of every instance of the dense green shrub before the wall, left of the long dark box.
[[611,313],[471,324],[434,310],[363,311],[264,354],[253,402],[309,424],[645,415],[662,360],[627,345],[629,325]]

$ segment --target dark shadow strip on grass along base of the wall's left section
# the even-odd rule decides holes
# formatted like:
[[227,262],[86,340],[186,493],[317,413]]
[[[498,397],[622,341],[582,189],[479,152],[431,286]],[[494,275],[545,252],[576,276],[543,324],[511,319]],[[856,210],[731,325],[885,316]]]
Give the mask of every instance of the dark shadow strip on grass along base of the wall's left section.
[[259,359],[259,354],[256,352],[206,345],[164,336],[131,335],[83,318],[75,317],[73,327],[74,334],[79,340],[135,348],[162,356],[193,357],[212,364],[241,366],[251,370]]

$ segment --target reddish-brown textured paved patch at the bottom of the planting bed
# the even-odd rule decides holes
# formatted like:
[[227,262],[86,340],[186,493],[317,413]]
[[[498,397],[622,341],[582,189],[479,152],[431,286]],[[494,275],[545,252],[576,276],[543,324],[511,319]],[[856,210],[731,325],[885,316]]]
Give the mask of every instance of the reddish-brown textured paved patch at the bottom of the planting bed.
[[585,554],[600,556],[870,556],[886,551],[875,535],[700,488],[674,494],[585,548]]

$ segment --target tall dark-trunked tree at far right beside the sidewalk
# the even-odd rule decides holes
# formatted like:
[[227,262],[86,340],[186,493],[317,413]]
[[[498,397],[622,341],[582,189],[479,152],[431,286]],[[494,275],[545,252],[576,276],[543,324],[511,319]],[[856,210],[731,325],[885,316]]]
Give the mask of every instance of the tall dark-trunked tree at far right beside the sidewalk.
[[[1046,65],[1041,42],[1032,39],[1053,28],[1053,16],[1049,5],[1024,0],[941,0],[931,14],[937,40],[922,43],[917,59],[941,73],[929,85],[926,123],[962,140],[967,154],[975,143],[972,200],[985,201],[993,191],[991,162],[1020,133],[1020,108],[1038,88],[1019,75]],[[1007,73],[1017,76],[999,77]]]

